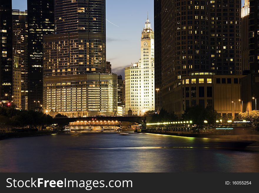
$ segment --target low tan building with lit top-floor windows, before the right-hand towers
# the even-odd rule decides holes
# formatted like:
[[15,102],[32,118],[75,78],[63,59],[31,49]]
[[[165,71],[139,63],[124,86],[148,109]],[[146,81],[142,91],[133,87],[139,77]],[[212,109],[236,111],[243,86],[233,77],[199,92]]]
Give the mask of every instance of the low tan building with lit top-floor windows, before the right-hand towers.
[[[243,75],[216,75],[211,71],[193,71],[182,77],[174,88],[171,105],[178,117],[190,107],[213,107],[221,116],[237,116],[241,111],[240,78]],[[170,88],[170,89],[173,89]],[[232,103],[235,101],[235,106]]]

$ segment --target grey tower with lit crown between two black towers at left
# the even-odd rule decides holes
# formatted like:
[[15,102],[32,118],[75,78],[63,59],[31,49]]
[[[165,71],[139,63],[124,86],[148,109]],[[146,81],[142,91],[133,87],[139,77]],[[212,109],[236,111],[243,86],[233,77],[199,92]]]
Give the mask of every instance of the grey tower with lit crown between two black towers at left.
[[28,23],[27,10],[13,10],[14,54],[21,69],[21,109],[28,110]]

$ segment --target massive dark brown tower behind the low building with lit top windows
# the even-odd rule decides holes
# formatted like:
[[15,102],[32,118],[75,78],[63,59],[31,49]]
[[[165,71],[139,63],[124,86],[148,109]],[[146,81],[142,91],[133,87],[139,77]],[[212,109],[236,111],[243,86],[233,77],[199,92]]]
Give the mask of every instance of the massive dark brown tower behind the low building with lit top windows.
[[[162,69],[159,92],[163,109],[169,113],[184,112],[186,102],[190,106],[200,104],[197,97],[183,101],[181,96],[187,91],[176,89],[192,71],[226,78],[242,74],[241,1],[154,0],[154,3],[155,23],[161,23],[156,26],[156,30],[161,29],[161,64],[155,60],[155,66]],[[159,84],[156,79],[156,85]],[[190,92],[198,92],[195,89]],[[206,101],[205,107],[207,104]]]

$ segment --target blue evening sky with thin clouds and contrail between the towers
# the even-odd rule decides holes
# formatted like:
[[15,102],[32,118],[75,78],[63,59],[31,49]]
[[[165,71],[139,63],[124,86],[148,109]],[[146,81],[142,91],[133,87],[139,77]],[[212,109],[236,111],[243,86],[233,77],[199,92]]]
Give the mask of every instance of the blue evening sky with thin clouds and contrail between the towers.
[[[13,9],[27,9],[27,0],[12,0],[12,3]],[[154,29],[153,0],[106,0],[106,19],[119,26],[106,21],[106,53],[112,72],[124,76],[124,68],[139,60],[141,31],[147,12]]]

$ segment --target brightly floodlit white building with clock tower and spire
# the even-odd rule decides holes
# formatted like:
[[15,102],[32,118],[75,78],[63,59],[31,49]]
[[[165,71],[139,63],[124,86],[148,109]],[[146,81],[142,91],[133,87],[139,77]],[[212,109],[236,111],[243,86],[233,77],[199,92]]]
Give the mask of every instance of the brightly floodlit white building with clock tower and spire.
[[126,112],[143,115],[155,110],[154,31],[149,19],[141,36],[141,58],[138,63],[125,68]]

